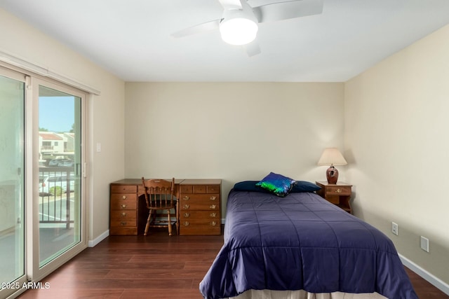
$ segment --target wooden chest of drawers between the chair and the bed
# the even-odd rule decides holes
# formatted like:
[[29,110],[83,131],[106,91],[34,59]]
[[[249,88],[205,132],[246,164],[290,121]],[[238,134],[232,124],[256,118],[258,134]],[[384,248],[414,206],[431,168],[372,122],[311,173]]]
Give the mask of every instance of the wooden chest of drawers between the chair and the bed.
[[180,235],[221,234],[221,180],[180,183]]

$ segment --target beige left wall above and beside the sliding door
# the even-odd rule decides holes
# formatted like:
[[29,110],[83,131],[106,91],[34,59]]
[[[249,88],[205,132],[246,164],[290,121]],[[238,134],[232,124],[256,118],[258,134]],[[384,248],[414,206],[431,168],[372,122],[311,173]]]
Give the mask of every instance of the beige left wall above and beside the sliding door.
[[[124,82],[0,9],[0,49],[100,90],[88,101],[89,239],[109,230],[109,183],[124,174]],[[96,143],[102,151],[94,151]]]

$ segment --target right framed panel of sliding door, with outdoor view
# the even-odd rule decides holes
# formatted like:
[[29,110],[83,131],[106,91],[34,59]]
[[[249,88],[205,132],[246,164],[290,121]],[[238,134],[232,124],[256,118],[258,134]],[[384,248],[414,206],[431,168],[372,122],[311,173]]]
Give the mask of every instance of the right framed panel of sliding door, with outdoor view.
[[87,246],[83,200],[85,95],[32,78],[34,104],[34,277],[44,277]]

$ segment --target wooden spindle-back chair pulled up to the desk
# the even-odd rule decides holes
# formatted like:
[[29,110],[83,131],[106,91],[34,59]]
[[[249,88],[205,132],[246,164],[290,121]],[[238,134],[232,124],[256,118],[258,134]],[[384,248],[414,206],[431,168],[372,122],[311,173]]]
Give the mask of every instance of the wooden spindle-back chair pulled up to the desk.
[[[145,233],[148,234],[150,227],[161,228],[168,226],[168,235],[171,235],[172,225],[177,225],[177,200],[175,199],[175,179],[166,181],[163,179],[145,180],[142,176],[142,185],[145,190],[145,202],[149,209]],[[171,209],[175,209],[175,221],[172,219]],[[158,218],[161,214],[157,211],[166,211],[166,220]]]

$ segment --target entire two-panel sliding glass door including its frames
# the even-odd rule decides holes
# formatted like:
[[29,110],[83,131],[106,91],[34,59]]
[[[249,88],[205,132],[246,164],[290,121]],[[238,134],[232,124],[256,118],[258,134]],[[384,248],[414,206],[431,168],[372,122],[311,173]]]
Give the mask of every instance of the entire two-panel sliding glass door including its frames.
[[0,66],[0,298],[87,247],[85,101]]

